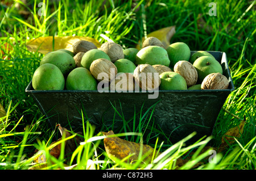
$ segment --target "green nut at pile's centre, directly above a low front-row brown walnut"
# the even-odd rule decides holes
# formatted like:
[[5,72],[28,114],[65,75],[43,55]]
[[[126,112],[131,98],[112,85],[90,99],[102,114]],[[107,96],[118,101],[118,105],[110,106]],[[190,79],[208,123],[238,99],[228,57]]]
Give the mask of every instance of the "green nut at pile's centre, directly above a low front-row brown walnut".
[[136,65],[132,61],[125,58],[115,61],[114,65],[117,67],[118,73],[133,73],[136,69]]

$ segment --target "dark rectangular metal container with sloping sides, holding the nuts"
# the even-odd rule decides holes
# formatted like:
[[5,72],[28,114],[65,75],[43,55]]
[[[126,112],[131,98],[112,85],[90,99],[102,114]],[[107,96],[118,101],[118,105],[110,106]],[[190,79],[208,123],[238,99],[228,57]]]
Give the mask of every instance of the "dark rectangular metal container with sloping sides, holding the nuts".
[[[191,54],[194,52],[191,51]],[[98,131],[125,132],[123,125],[129,125],[131,129],[126,131],[130,132],[138,127],[139,117],[147,113],[147,121],[150,121],[144,125],[148,125],[149,132],[158,130],[160,138],[169,138],[171,142],[177,142],[196,132],[188,142],[196,141],[212,134],[218,114],[226,98],[234,90],[226,53],[209,53],[220,62],[223,74],[229,80],[228,89],[158,92],[36,91],[31,81],[26,92],[46,115],[53,129],[56,124],[60,124],[69,130],[72,127],[74,132],[82,131],[82,124],[88,120]],[[158,97],[149,99],[153,94],[158,94]],[[146,119],[145,117],[143,119]]]

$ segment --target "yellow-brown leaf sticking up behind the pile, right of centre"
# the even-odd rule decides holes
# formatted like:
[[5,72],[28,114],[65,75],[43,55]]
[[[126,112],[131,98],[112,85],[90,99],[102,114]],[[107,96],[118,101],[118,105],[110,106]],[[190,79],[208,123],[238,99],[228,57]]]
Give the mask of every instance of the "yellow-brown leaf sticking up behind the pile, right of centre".
[[[166,49],[170,45],[170,40],[172,36],[175,34],[175,27],[176,26],[171,26],[171,27],[166,27],[162,28],[160,30],[153,31],[151,33],[148,33],[147,37],[156,37],[160,41],[162,41],[164,48]],[[142,43],[144,41],[144,37],[142,38]],[[141,49],[142,43],[139,42],[136,46],[137,49]]]

